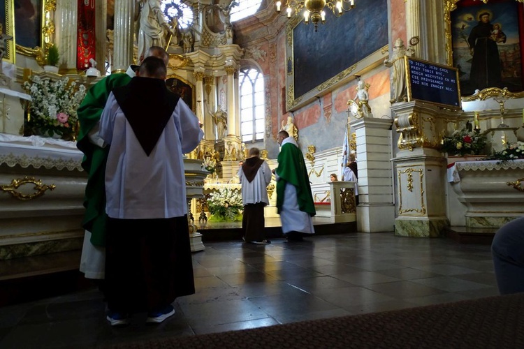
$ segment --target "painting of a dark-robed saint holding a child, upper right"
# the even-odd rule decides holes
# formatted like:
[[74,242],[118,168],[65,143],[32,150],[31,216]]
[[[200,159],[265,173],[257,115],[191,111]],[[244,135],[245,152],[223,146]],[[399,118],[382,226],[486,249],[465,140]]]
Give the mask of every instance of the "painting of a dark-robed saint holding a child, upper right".
[[451,64],[458,68],[463,96],[488,87],[523,91],[522,3],[461,0],[451,10],[450,20]]

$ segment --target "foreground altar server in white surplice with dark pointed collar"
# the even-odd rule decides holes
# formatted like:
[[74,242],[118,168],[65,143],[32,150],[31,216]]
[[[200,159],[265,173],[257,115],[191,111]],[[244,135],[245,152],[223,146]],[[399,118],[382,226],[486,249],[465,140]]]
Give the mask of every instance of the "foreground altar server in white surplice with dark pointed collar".
[[146,312],[158,323],[176,297],[195,292],[183,154],[198,145],[198,118],[166,83],[166,65],[147,57],[137,76],[113,89],[100,135],[105,169],[105,297],[111,325]]

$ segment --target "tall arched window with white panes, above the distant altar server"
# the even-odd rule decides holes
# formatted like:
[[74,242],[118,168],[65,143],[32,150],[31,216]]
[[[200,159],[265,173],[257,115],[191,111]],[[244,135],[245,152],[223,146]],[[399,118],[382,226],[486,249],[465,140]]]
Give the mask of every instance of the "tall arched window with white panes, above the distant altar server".
[[259,70],[241,69],[240,82],[240,135],[242,142],[256,142],[264,138],[265,101],[264,77]]

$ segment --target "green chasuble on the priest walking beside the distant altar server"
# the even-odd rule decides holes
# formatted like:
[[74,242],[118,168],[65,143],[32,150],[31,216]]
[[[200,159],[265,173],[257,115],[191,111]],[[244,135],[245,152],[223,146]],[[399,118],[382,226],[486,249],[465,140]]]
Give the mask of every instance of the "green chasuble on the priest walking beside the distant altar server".
[[280,213],[284,204],[284,189],[286,183],[296,187],[298,208],[300,211],[314,216],[316,214],[311,194],[310,177],[307,175],[304,156],[293,143],[286,143],[278,154],[277,172],[280,179],[277,181],[277,211]]

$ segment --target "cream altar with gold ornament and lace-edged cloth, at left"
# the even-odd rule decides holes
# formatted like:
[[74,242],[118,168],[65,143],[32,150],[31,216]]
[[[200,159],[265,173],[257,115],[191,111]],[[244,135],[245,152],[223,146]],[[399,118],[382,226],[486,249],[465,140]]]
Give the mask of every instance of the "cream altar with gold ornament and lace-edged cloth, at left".
[[75,142],[0,133],[0,260],[82,248]]

